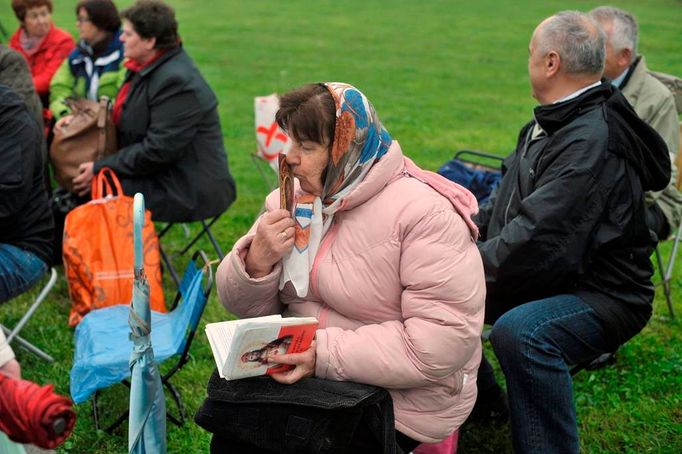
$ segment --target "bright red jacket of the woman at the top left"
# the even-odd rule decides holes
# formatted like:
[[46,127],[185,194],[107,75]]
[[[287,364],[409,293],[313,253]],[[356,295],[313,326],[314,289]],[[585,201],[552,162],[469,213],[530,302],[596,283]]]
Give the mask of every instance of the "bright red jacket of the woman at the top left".
[[46,98],[50,91],[52,76],[57,72],[64,59],[76,47],[76,44],[69,33],[55,27],[53,24],[43,42],[40,43],[40,48],[33,55],[28,55],[21,47],[21,42],[19,41],[20,34],[21,28],[17,29],[12,35],[9,47],[16,49],[24,56],[28,66],[31,68],[33,85],[36,87],[36,92],[41,98]]

